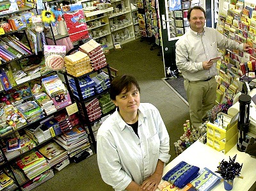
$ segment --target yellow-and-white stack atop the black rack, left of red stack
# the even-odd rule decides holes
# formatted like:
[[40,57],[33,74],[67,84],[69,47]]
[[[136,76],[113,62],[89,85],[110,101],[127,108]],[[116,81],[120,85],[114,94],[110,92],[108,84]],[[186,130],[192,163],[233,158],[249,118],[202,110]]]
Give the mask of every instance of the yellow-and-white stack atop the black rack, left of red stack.
[[64,57],[67,73],[74,77],[79,77],[86,73],[92,72],[90,57],[81,51]]

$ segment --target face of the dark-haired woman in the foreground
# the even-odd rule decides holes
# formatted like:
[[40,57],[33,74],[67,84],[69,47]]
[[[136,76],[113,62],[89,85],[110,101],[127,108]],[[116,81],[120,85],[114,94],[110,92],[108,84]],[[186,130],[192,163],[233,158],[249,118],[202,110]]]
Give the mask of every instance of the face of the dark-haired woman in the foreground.
[[140,106],[140,92],[134,85],[129,91],[124,88],[113,102],[119,108],[120,114],[137,112]]

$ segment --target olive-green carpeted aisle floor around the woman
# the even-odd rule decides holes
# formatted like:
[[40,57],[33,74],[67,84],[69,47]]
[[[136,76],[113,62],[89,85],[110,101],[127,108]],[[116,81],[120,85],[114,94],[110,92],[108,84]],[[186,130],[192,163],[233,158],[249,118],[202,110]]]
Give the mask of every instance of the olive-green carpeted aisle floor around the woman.
[[[123,45],[122,50],[111,49],[106,55],[109,66],[119,74],[134,75],[141,88],[141,102],[154,104],[166,125],[170,135],[170,161],[175,158],[173,142],[183,134],[183,123],[189,119],[188,105],[164,84],[164,65],[161,56],[157,56],[160,47],[150,50],[151,45],[140,39]],[[100,176],[97,154],[86,158],[78,164],[72,162],[60,172],[54,171],[54,177],[34,188],[41,190],[95,191],[113,190]]]

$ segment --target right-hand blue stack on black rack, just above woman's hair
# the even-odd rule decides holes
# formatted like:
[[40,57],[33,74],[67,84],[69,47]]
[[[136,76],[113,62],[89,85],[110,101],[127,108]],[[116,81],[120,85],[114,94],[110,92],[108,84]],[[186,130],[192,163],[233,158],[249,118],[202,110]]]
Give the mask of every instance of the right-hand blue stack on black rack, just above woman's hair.
[[101,93],[110,87],[109,76],[105,72],[100,72],[92,80],[95,82],[96,93]]

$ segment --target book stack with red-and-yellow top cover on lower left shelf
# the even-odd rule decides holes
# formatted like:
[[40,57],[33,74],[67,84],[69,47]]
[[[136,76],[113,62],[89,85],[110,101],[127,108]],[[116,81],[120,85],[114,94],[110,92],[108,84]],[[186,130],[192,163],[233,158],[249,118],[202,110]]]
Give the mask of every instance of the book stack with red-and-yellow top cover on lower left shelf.
[[29,180],[50,169],[46,159],[38,151],[31,151],[23,157],[17,158],[16,164],[24,171]]

